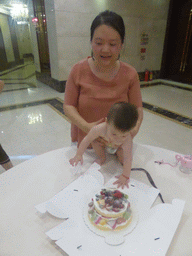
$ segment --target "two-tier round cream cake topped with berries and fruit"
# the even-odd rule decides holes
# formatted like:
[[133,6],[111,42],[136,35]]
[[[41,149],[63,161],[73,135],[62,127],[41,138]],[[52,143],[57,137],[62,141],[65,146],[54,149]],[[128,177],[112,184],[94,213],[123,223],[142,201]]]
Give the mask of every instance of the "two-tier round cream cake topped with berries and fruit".
[[132,219],[128,195],[117,189],[101,189],[88,204],[88,218],[101,230],[117,231],[126,228]]

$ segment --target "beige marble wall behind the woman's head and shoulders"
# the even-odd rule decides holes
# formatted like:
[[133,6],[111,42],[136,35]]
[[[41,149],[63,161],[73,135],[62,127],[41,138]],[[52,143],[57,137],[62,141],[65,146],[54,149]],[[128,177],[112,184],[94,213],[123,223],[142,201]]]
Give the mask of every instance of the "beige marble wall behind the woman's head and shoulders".
[[[51,74],[67,80],[72,65],[90,55],[90,25],[106,9],[120,14],[126,26],[121,60],[138,72],[160,70],[169,0],[45,0]],[[140,59],[141,33],[149,35],[146,58]]]

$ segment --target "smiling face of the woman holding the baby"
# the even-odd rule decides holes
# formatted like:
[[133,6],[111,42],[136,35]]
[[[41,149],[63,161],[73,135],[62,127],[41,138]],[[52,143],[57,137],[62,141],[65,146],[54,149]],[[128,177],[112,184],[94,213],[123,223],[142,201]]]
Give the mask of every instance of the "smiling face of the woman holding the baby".
[[91,46],[97,64],[111,66],[117,61],[122,49],[121,37],[112,27],[101,25],[95,29]]

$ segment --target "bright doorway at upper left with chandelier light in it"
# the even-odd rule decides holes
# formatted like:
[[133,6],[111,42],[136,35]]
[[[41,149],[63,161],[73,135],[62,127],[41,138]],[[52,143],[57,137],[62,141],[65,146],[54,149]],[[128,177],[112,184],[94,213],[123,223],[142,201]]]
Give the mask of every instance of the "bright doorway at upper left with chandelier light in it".
[[36,87],[29,26],[28,6],[24,1],[12,4],[1,1],[0,79],[5,83],[4,90],[18,89],[21,84]]

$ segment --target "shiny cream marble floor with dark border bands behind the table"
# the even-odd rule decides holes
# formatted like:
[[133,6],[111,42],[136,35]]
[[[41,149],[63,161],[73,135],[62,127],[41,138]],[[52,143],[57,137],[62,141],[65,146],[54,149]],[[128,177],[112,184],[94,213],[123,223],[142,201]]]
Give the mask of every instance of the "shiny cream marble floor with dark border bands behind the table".
[[[71,145],[64,93],[37,81],[32,62],[0,73],[0,79],[0,143],[13,165]],[[142,82],[141,92],[144,120],[134,142],[192,154],[192,85],[156,80]]]

